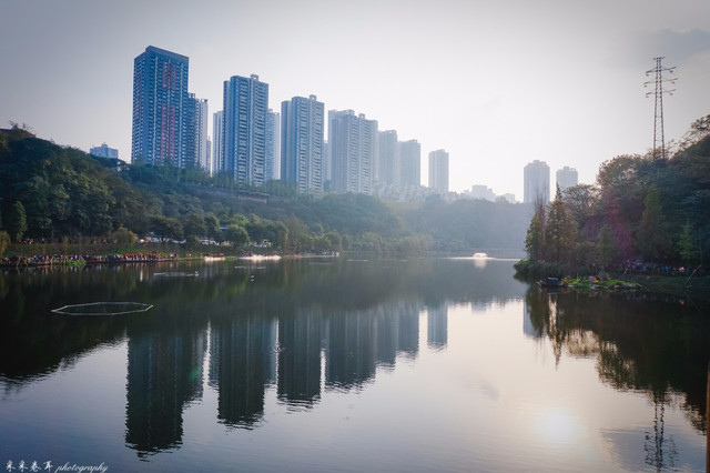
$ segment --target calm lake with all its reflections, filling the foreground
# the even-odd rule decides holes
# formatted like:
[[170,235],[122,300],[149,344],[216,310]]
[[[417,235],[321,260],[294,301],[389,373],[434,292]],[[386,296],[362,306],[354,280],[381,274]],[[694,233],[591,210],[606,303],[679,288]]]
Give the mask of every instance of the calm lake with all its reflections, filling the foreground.
[[[51,312],[94,302],[153,306]],[[6,273],[0,308],[14,471],[706,469],[710,311],[692,298],[339,258]]]

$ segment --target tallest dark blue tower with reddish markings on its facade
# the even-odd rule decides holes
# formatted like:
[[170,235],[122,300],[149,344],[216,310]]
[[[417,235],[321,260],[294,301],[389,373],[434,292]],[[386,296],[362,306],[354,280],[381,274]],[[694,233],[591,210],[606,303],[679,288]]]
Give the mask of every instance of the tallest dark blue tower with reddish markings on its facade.
[[194,113],[187,72],[187,57],[152,46],[133,61],[132,162],[192,165]]

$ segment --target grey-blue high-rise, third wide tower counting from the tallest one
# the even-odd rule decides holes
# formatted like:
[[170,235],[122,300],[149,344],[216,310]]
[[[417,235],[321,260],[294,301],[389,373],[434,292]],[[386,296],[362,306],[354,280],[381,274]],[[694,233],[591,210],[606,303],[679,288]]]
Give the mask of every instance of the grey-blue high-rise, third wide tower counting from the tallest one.
[[282,180],[300,192],[323,190],[324,107],[315,95],[281,103]]

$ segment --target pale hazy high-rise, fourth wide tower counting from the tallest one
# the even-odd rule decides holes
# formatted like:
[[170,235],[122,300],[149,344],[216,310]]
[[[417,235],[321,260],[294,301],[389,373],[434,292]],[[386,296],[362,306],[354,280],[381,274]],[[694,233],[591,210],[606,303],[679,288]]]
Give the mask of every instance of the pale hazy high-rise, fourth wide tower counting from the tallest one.
[[376,120],[352,110],[328,112],[334,191],[372,193],[376,140]]

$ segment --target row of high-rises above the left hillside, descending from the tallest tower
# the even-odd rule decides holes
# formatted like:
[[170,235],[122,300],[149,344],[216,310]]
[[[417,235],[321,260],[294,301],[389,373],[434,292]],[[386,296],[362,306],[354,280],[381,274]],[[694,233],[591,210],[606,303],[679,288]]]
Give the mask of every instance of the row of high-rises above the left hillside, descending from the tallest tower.
[[[200,167],[226,173],[237,187],[274,179],[303,193],[374,193],[420,185],[422,147],[353,110],[327,113],[316,95],[268,108],[258,76],[224,81],[222,110],[207,137],[207,102],[189,92],[189,58],[154,47],[135,58],[132,162]],[[327,139],[326,139],[327,138]],[[211,144],[212,141],[212,144]],[[448,153],[429,154],[429,188],[448,192]]]

